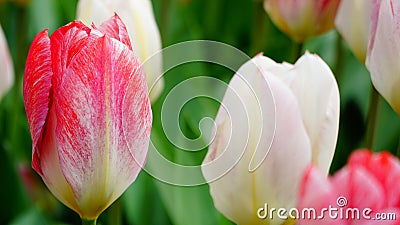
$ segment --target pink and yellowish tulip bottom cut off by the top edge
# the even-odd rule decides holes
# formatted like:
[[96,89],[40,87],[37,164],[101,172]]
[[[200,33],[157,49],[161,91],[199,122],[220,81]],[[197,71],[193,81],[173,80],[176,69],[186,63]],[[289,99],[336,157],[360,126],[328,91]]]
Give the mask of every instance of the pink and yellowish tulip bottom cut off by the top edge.
[[265,0],[264,8],[275,25],[297,42],[334,27],[340,0]]

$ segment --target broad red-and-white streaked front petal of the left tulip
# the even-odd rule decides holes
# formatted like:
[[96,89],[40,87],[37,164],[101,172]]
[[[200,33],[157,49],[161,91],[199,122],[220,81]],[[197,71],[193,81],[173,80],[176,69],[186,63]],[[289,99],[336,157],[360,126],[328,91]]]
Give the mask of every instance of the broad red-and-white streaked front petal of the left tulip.
[[[81,210],[96,218],[144,163],[150,128],[143,124],[151,121],[151,113],[146,86],[131,84],[144,81],[144,74],[132,51],[107,36],[82,49],[65,73],[56,98],[60,164]],[[140,99],[126,102],[133,97]],[[123,107],[137,107],[125,115],[132,118],[124,119]]]

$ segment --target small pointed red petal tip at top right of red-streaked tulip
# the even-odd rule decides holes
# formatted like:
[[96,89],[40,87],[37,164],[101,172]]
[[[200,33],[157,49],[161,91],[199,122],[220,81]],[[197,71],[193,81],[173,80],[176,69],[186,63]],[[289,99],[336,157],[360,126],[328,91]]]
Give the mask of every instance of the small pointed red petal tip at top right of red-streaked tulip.
[[122,22],[121,18],[115,14],[110,19],[104,21],[98,29],[100,32],[109,35],[112,38],[117,39],[118,41],[124,43],[130,50],[132,50],[131,41],[129,38],[128,31],[126,30],[126,26],[124,22]]

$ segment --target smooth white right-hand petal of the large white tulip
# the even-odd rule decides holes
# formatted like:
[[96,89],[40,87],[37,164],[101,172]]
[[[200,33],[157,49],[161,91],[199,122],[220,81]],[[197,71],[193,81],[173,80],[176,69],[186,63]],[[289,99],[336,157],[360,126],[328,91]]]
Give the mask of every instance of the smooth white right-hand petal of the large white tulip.
[[292,71],[278,77],[297,97],[311,141],[312,162],[328,174],[339,131],[339,89],[335,77],[320,57],[308,52]]

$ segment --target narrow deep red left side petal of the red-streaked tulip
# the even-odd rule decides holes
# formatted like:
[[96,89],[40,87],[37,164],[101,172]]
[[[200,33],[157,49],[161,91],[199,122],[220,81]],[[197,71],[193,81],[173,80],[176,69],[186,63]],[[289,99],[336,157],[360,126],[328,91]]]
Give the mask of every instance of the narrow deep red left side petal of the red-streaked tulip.
[[50,103],[51,53],[47,30],[36,35],[29,49],[24,74],[24,105],[32,135],[32,167],[41,173],[38,143],[43,133]]

